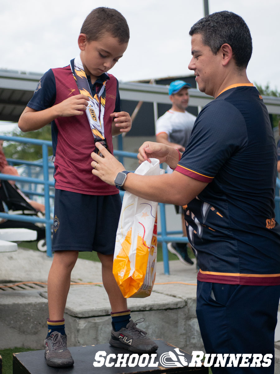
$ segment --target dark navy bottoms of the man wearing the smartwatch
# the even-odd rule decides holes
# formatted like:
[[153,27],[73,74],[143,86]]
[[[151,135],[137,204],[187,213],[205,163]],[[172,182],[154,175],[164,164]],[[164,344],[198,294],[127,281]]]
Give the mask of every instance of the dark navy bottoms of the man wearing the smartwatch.
[[[213,374],[274,373],[274,330],[279,297],[278,285],[197,281],[196,315],[206,353],[252,355],[248,360],[249,367],[212,366]],[[253,366],[254,354],[271,354],[271,364],[268,367]]]

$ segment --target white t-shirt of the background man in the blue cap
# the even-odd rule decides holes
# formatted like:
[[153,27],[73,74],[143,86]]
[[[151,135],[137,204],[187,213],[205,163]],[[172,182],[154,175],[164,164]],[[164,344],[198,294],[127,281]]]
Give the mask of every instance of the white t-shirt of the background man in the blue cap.
[[196,117],[185,111],[168,110],[156,121],[156,135],[165,132],[168,141],[186,147],[193,129]]

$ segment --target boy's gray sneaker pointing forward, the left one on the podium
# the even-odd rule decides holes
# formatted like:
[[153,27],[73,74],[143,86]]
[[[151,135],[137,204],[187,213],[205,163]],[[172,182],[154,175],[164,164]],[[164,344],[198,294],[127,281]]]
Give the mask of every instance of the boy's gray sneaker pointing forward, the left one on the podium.
[[47,365],[65,368],[74,364],[71,353],[67,348],[66,335],[61,335],[60,332],[54,331],[45,339],[44,346]]

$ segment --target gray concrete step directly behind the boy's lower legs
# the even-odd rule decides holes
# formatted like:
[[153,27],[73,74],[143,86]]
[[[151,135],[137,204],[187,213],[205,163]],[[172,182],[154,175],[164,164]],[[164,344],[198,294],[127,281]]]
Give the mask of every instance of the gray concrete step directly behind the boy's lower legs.
[[[128,299],[131,318],[144,318],[139,328],[150,338],[169,341],[186,352],[203,350],[203,343],[195,315],[195,297],[187,288],[184,298],[158,292],[163,285],[155,285],[150,297]],[[166,287],[166,286],[165,286]],[[158,291],[156,290],[158,288]],[[172,294],[172,291],[169,291]],[[43,349],[48,317],[45,289],[0,289],[0,349],[30,347]],[[111,334],[111,316],[108,296],[103,285],[73,285],[65,309],[68,345],[102,344]],[[7,340],[6,337],[9,337]]]

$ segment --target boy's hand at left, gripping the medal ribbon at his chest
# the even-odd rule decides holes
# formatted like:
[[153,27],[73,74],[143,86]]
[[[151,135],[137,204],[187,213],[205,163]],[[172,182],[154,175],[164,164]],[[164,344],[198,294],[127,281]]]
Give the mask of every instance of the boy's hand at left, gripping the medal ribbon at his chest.
[[57,117],[82,116],[90,99],[83,95],[70,96],[56,105]]

